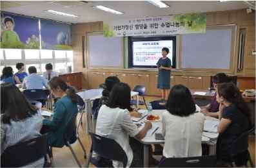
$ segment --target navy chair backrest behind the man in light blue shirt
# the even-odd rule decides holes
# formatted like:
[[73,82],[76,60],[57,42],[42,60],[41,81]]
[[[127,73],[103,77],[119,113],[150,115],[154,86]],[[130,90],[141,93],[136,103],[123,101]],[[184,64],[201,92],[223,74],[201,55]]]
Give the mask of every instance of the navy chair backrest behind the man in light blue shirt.
[[26,89],[23,91],[23,94],[29,100],[46,100],[50,91],[44,89]]

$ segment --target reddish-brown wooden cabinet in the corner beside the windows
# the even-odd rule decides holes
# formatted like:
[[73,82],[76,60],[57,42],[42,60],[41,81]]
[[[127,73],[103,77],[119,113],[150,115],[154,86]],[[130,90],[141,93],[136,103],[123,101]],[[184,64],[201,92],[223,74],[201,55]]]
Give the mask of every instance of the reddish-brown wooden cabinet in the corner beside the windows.
[[74,72],[70,74],[60,74],[59,75],[68,85],[75,87],[77,90],[82,89],[82,80],[83,80],[83,73],[82,72]]

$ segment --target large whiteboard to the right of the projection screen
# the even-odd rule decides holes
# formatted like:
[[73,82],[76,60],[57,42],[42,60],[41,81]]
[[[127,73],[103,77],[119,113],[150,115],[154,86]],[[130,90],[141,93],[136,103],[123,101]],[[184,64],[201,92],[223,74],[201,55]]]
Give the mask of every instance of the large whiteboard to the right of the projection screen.
[[182,35],[182,69],[231,69],[235,26],[208,27],[206,33]]

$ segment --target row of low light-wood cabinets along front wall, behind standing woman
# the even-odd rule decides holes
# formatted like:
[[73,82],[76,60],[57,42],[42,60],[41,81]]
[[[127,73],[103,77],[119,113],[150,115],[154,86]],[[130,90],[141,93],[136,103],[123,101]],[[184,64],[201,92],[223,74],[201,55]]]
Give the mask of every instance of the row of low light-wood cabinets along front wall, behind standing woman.
[[[89,88],[98,88],[108,76],[117,76],[121,82],[127,83],[131,90],[135,85],[144,85],[146,87],[146,95],[161,96],[160,90],[157,88],[158,75],[157,72],[133,72],[117,71],[117,72],[88,72]],[[210,87],[210,76],[188,76],[175,75],[170,77],[171,87],[177,84],[185,85],[190,89],[207,89]]]

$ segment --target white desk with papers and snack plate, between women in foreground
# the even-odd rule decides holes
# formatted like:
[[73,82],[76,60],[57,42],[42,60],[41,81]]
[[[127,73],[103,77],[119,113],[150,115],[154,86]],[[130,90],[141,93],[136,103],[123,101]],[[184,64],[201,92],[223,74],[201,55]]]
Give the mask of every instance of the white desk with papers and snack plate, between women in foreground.
[[[162,112],[164,112],[164,110],[153,110],[151,113],[152,114],[156,114],[159,115],[161,117]],[[144,118],[146,119],[146,117]],[[144,121],[141,120],[139,122],[134,122],[136,123],[141,123]],[[206,120],[216,120],[212,117],[206,117]],[[152,128],[155,128],[159,126],[159,129],[157,131],[155,131],[155,133],[161,133],[162,132],[162,122],[152,122]],[[216,146],[217,146],[217,137],[219,136],[218,133],[210,133],[211,134],[211,138],[206,137],[207,132],[203,132],[202,135],[202,144],[208,144],[209,145],[209,155],[215,155],[216,154]],[[208,135],[207,135],[208,136]],[[151,144],[164,144],[164,140],[155,140],[155,135],[151,134],[151,132],[147,133],[146,137],[144,137],[144,139],[139,140],[142,144],[143,144],[143,153],[144,153],[144,167],[148,167],[149,165],[149,147]]]

